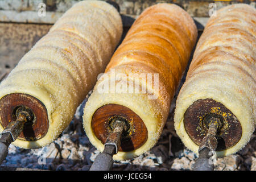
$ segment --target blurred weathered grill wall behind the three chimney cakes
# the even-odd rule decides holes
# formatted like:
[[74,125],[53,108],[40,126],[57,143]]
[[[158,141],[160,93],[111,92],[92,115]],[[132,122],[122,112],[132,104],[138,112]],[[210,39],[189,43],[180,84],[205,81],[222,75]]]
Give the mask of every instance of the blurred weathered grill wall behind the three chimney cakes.
[[[52,24],[67,11],[75,0],[0,0],[0,75],[3,68],[13,68],[20,58],[43,35]],[[255,7],[255,0],[247,1],[185,1],[185,0],[115,0],[123,15],[123,26],[129,28],[133,22],[130,18],[136,18],[147,7],[156,3],[175,3],[183,7],[195,20],[205,24],[209,18],[210,9],[233,3],[247,3]],[[212,4],[214,3],[214,4]]]

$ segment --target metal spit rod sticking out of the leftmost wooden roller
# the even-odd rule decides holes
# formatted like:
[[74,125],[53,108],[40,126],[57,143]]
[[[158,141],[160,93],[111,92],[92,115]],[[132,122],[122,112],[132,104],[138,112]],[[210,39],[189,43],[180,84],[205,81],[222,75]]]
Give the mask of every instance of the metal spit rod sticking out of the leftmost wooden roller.
[[11,142],[14,142],[19,134],[22,132],[24,125],[28,121],[32,121],[33,117],[31,111],[26,107],[20,106],[16,109],[16,120],[11,121],[9,125],[3,130],[0,138],[0,164],[5,160],[8,154],[8,147]]

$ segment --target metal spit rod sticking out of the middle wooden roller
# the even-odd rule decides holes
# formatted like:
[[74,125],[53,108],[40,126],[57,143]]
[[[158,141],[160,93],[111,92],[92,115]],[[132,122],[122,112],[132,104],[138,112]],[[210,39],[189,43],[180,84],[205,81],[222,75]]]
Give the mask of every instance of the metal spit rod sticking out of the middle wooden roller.
[[124,121],[116,120],[113,124],[113,131],[104,144],[104,151],[94,160],[90,171],[109,171],[113,168],[113,155],[117,154],[121,145],[122,133],[127,130]]

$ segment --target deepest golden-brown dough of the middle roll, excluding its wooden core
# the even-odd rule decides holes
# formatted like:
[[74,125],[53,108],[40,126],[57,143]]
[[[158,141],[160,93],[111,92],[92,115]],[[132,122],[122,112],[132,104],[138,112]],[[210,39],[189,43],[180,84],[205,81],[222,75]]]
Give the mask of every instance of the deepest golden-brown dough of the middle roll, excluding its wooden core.
[[[100,107],[108,104],[128,107],[142,119],[148,132],[142,146],[132,151],[119,151],[113,156],[115,160],[134,158],[155,145],[196,38],[197,29],[193,19],[179,6],[160,3],[143,11],[115,51],[105,75],[97,81],[86,102],[84,129],[96,148],[103,151],[104,144],[94,134],[92,118]],[[112,72],[117,77],[113,77]],[[143,79],[143,74],[151,74],[152,80]],[[109,84],[112,78],[114,92]],[[157,86],[155,82],[158,82]],[[126,83],[132,84],[125,90],[121,85]],[[106,85],[105,89],[109,92],[102,93],[102,85]],[[135,92],[136,88],[141,92]],[[128,89],[133,92],[129,93]]]

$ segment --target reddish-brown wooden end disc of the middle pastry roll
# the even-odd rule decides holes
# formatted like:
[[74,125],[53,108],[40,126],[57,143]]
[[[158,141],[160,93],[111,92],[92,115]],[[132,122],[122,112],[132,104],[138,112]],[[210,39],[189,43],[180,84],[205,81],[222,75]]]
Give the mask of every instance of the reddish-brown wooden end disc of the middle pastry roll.
[[91,123],[94,135],[103,144],[113,131],[113,123],[117,119],[124,121],[127,125],[127,130],[122,133],[121,146],[118,151],[133,151],[147,141],[147,127],[134,111],[122,105],[108,104],[96,110]]

